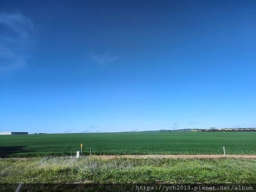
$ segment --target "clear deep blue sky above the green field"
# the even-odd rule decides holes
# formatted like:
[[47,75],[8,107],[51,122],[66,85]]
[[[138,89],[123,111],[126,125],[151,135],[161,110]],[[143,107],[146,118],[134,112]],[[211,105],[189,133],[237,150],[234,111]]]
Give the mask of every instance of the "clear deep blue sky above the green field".
[[256,127],[256,1],[0,0],[0,131]]

